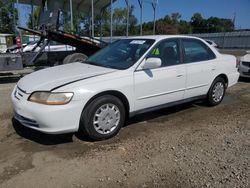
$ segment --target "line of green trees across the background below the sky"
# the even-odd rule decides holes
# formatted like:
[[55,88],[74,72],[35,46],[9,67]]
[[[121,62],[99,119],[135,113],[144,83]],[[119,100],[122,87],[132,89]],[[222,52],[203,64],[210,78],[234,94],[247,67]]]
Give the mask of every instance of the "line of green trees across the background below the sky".
[[[139,35],[140,23],[134,15],[135,7],[129,8],[129,35]],[[36,7],[34,15],[29,16],[27,27],[37,28],[40,8]],[[110,9],[107,8],[99,15],[95,15],[95,36],[110,35]],[[70,24],[68,12],[63,12],[60,16],[60,29],[78,35],[90,35],[91,21],[86,13],[74,12],[73,29]],[[15,23],[17,23],[17,11],[11,1],[3,3],[0,0],[0,33],[15,33]],[[113,35],[126,35],[127,9],[115,8],[113,11]],[[153,33],[153,21],[143,23],[143,34]],[[180,13],[166,15],[156,20],[156,34],[191,34],[191,33],[214,33],[234,31],[234,23],[231,19],[209,17],[205,19],[200,13],[194,13],[191,20],[183,20]]]

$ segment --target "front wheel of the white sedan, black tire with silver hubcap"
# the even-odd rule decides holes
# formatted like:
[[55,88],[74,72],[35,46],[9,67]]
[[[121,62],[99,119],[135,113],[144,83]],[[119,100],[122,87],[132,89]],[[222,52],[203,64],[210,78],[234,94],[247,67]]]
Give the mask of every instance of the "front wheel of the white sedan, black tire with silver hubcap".
[[92,140],[105,140],[115,136],[124,122],[125,108],[121,100],[105,95],[94,99],[83,110],[79,133]]

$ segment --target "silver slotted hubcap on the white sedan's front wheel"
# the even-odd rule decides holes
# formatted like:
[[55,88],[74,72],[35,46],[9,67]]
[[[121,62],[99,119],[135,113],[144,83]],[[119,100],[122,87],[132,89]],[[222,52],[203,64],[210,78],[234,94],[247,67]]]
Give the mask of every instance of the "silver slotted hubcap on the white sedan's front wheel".
[[98,108],[93,118],[95,130],[100,134],[109,134],[120,123],[120,110],[114,104],[104,104]]

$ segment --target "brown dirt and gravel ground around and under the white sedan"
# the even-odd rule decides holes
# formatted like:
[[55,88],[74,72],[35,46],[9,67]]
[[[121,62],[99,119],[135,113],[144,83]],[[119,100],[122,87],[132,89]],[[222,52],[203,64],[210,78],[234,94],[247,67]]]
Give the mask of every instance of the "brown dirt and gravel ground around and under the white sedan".
[[0,187],[250,187],[249,80],[217,107],[196,102],[143,114],[102,142],[13,121],[15,82],[0,84]]

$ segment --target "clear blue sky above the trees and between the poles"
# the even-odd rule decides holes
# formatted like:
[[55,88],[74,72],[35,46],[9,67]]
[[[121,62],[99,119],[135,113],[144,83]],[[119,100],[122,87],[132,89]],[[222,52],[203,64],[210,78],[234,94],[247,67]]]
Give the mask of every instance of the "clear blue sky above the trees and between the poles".
[[[74,1],[73,1],[74,2]],[[153,20],[152,0],[143,0],[143,22]],[[138,0],[129,0],[134,5],[134,14],[140,20],[140,8]],[[117,0],[114,8],[125,7],[125,0]],[[21,5],[21,24],[25,25],[30,8]],[[200,12],[203,18],[211,16],[233,19],[236,15],[236,29],[250,29],[250,0],[158,0],[156,18],[179,12],[183,20],[189,21],[192,15]]]

